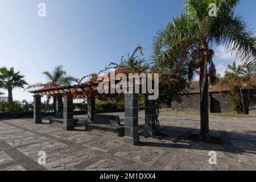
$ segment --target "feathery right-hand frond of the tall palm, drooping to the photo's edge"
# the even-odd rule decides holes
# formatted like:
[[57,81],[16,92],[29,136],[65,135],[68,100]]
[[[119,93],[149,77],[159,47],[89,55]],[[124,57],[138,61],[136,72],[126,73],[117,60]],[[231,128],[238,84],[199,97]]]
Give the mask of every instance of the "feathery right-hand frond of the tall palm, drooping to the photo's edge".
[[231,12],[213,20],[209,37],[211,41],[226,46],[233,55],[246,61],[256,57],[256,35],[248,31],[247,27],[241,16]]

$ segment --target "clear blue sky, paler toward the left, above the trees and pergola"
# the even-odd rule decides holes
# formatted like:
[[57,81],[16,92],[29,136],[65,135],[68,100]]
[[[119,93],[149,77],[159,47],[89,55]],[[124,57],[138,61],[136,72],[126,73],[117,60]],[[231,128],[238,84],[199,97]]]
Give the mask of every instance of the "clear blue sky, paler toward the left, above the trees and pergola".
[[[38,16],[46,3],[47,16]],[[172,17],[183,12],[180,0],[1,0],[0,67],[14,67],[29,84],[45,82],[43,71],[58,64],[69,75],[98,72],[111,61],[132,52],[138,44],[146,59],[152,37]],[[255,31],[255,0],[243,0],[237,13]],[[235,57],[224,47],[214,47],[218,72]],[[3,90],[2,90],[3,91]],[[14,100],[32,101],[31,94],[14,90]]]

